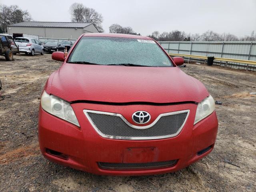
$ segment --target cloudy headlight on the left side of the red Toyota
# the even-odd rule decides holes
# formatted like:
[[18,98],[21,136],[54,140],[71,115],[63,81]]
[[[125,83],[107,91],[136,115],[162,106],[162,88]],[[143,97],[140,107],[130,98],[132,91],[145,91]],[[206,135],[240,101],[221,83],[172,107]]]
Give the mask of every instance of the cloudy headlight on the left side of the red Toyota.
[[41,97],[41,106],[46,112],[80,127],[74,110],[68,102],[44,91]]

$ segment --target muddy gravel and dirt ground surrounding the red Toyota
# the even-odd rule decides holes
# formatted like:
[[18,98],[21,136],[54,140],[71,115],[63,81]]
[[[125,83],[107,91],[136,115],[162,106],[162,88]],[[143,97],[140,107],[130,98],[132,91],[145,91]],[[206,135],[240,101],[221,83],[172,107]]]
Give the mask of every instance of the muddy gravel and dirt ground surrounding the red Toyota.
[[[38,106],[48,76],[61,63],[50,54],[0,58],[0,192],[256,191],[256,72],[187,64],[215,100],[219,120],[215,148],[175,173],[96,176],[49,162],[38,147]],[[232,164],[234,165],[232,165]]]

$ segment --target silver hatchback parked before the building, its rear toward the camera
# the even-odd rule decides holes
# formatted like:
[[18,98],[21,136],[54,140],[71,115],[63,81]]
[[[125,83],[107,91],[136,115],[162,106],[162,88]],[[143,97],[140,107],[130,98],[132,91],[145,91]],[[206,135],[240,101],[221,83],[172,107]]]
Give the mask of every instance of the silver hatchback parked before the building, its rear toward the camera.
[[30,54],[32,56],[36,53],[44,54],[44,47],[34,38],[16,37],[14,41],[19,46],[20,53]]

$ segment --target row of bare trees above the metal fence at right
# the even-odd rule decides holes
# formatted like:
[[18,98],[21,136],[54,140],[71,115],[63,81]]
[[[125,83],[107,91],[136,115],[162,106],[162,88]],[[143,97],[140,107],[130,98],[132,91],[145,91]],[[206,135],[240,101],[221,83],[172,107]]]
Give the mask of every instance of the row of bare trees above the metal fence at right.
[[171,32],[159,33],[158,31],[152,32],[149,37],[157,41],[255,41],[256,34],[252,31],[250,36],[238,37],[230,33],[218,34],[208,30],[202,34],[187,34],[184,31],[173,30]]

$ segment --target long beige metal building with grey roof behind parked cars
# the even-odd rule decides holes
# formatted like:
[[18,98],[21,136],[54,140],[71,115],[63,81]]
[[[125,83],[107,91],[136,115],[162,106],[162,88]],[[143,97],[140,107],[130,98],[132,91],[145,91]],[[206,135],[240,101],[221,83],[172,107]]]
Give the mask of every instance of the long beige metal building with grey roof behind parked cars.
[[37,35],[43,38],[76,39],[84,33],[98,33],[92,23],[76,22],[21,22],[7,26],[8,34]]

